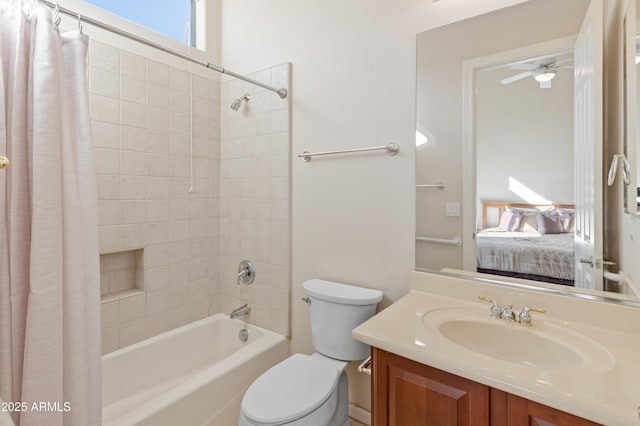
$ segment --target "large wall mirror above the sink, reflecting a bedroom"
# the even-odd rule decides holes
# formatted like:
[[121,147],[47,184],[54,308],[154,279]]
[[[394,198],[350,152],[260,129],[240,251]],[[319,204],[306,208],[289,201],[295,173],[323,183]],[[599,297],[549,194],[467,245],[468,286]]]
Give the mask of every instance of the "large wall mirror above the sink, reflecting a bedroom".
[[[574,148],[573,71],[584,63],[575,46],[590,3],[531,0],[418,34],[416,269],[480,266],[504,283],[606,290],[602,278],[574,285],[598,262],[575,255],[576,224],[592,226],[587,239],[600,251],[603,238],[593,228],[602,200],[585,198],[602,187],[602,147]],[[576,178],[587,169],[591,182]],[[480,253],[487,228],[495,239]]]

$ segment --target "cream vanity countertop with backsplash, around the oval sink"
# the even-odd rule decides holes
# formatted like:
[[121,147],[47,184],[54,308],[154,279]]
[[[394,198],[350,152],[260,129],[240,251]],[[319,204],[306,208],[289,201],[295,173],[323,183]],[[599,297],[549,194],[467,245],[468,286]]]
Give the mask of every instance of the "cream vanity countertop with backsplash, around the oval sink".
[[[589,369],[543,369],[502,361],[446,341],[423,316],[442,308],[486,310],[488,296],[516,314],[525,304],[546,314],[536,320],[599,343],[604,362]],[[492,319],[493,320],[493,319]],[[501,320],[495,320],[501,321]],[[513,324],[513,327],[524,327]],[[511,289],[437,274],[412,272],[410,292],[353,331],[371,346],[605,425],[638,425],[640,308]],[[444,339],[444,340],[443,340]]]

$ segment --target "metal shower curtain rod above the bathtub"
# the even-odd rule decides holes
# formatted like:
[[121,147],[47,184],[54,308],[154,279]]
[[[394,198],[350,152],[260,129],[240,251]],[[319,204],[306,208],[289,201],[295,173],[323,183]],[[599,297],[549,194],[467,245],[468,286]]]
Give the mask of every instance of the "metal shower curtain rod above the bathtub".
[[98,21],[98,20],[90,18],[88,16],[80,15],[80,12],[75,12],[73,10],[67,9],[65,7],[62,7],[58,3],[53,3],[53,2],[50,2],[48,0],[39,0],[39,3],[45,4],[48,7],[53,8],[54,10],[58,10],[60,13],[63,13],[65,15],[67,15],[67,16],[75,18],[75,19],[77,19],[79,21],[79,23],[86,22],[87,24],[93,25],[93,26],[101,28],[103,30],[110,31],[110,32],[112,32],[114,34],[117,34],[119,36],[128,38],[128,39],[133,40],[133,41],[137,41],[138,43],[145,44],[145,45],[147,45],[149,47],[153,47],[154,49],[158,49],[158,50],[161,50],[163,52],[169,53],[171,55],[177,56],[179,58],[186,59],[187,61],[192,62],[194,64],[202,65],[203,67],[206,67],[206,68],[209,68],[211,70],[217,71],[220,74],[228,74],[228,75],[230,75],[232,77],[235,77],[237,79],[246,81],[247,83],[251,83],[251,84],[254,84],[256,86],[260,86],[260,87],[262,87],[264,89],[271,90],[272,92],[277,93],[278,96],[280,96],[283,99],[287,97],[287,89],[284,89],[284,88],[278,89],[277,87],[269,86],[267,84],[264,84],[264,83],[261,83],[259,81],[253,80],[253,79],[251,79],[249,77],[245,77],[243,75],[237,74],[237,73],[235,73],[233,71],[230,71],[228,69],[225,69],[225,68],[223,68],[223,67],[221,67],[219,65],[212,64],[211,62],[201,61],[199,59],[192,58],[189,55],[186,55],[186,54],[184,54],[182,52],[178,52],[177,50],[174,50],[174,49],[171,49],[169,47],[163,46],[163,45],[161,45],[159,43],[155,43],[155,42],[153,42],[151,40],[147,40],[145,38],[139,37],[139,36],[137,36],[135,34],[132,34],[130,32],[124,31],[124,30],[121,30],[121,29],[116,28],[116,27],[114,27],[112,25],[105,24],[104,22]]

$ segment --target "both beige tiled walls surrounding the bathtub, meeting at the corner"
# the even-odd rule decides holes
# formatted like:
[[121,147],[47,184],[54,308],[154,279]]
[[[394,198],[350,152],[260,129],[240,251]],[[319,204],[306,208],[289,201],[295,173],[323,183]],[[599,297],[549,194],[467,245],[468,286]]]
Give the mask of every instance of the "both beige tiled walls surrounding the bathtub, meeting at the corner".
[[[289,74],[283,64],[251,77],[289,89]],[[221,102],[215,75],[96,41],[88,77],[103,352],[245,302],[248,321],[289,335],[289,98],[230,80]],[[256,266],[251,286],[236,285],[243,259]],[[135,272],[114,269],[123,262]]]

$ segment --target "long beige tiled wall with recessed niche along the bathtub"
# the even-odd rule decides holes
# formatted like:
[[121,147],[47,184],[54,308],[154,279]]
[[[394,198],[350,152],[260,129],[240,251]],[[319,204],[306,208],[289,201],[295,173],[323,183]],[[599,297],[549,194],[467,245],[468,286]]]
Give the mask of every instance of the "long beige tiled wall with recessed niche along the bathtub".
[[106,353],[219,311],[220,83],[95,41],[88,76],[100,250],[144,265],[102,285]]

